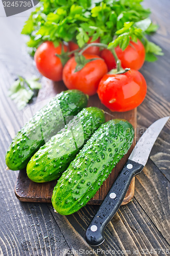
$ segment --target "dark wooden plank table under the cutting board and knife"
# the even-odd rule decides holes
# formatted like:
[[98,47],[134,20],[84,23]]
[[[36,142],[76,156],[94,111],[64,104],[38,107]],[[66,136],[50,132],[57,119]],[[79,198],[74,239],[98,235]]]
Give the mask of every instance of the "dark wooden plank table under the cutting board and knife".
[[[152,122],[169,115],[170,109],[170,2],[145,0],[143,4],[152,8],[152,19],[160,26],[151,40],[162,47],[164,56],[155,63],[145,63],[141,69],[148,93],[137,111],[138,136]],[[6,170],[5,154],[23,124],[23,112],[9,99],[8,89],[17,74],[29,76],[36,71],[26,53],[25,38],[20,36],[28,13],[8,18],[2,10],[0,14],[0,255],[169,255],[169,122],[143,172],[136,177],[133,201],[119,208],[99,247],[91,248],[84,240],[85,229],[98,206],[86,206],[65,217],[56,214],[51,204],[23,203],[15,197],[18,172]]]

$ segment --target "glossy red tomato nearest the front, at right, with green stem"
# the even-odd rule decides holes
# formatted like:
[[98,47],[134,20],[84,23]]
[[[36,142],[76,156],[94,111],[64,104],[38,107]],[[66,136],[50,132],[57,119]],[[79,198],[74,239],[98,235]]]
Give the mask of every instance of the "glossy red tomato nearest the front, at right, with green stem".
[[129,111],[140,105],[147,93],[147,83],[137,70],[124,74],[106,74],[101,79],[98,95],[111,111]]

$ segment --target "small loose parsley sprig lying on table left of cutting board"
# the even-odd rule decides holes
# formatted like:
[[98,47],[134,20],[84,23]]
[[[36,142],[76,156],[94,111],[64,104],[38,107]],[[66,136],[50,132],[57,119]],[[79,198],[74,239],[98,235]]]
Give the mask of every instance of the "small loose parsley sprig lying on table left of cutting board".
[[18,76],[18,79],[12,84],[9,96],[17,104],[17,108],[22,110],[34,95],[34,90],[39,90],[41,84],[39,78],[33,77],[25,79]]

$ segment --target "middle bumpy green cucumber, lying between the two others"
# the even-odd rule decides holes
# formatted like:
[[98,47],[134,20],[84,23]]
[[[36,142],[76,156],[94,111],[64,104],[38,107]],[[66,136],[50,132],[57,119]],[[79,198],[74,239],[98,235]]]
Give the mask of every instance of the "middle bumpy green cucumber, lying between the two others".
[[83,109],[35,153],[27,165],[28,177],[34,182],[58,179],[104,122],[102,110],[95,107]]

